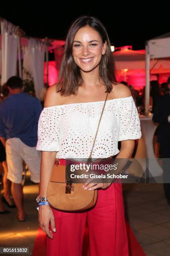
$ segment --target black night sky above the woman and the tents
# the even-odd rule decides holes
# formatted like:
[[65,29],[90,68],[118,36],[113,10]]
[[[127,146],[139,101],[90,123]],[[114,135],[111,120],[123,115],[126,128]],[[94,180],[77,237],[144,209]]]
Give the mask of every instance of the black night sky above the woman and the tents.
[[0,17],[20,26],[27,36],[65,40],[74,19],[92,15],[105,25],[112,45],[132,45],[133,50],[144,49],[146,40],[170,32],[170,12],[165,2],[154,2],[149,9],[149,1],[114,5],[108,1],[63,3],[61,6],[53,1],[7,1],[0,7]]

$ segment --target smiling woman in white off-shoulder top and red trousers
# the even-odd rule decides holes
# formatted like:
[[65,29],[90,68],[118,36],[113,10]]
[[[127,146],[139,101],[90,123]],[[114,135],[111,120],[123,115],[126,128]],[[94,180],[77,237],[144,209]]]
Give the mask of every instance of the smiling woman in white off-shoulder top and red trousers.
[[[129,158],[134,139],[141,136],[135,102],[128,87],[116,82],[105,27],[94,17],[81,16],[67,33],[58,83],[47,90],[38,123],[37,150],[43,151],[41,197],[46,197],[55,158],[87,159],[90,155],[106,92],[92,157],[119,153],[118,158]],[[117,141],[122,141],[120,152]],[[47,255],[81,255],[87,218],[91,256],[128,256],[121,184],[83,185],[84,189],[98,189],[96,205],[91,209],[64,212],[40,205],[39,223],[47,234]]]

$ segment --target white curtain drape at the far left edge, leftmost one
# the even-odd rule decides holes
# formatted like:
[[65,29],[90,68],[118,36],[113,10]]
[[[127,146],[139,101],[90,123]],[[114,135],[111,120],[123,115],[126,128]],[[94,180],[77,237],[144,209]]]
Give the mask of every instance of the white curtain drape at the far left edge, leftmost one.
[[0,22],[2,34],[2,74],[1,85],[17,72],[18,26],[7,20]]

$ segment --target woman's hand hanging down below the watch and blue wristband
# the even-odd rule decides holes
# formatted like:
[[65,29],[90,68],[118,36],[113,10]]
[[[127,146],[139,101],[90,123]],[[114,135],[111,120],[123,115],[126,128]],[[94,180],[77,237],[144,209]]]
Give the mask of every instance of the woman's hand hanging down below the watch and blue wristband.
[[39,219],[39,224],[42,230],[47,234],[49,238],[52,239],[53,234],[49,228],[49,224],[51,223],[51,228],[54,232],[56,232],[56,228],[55,228],[54,214],[50,208],[50,205],[39,206],[38,219]]

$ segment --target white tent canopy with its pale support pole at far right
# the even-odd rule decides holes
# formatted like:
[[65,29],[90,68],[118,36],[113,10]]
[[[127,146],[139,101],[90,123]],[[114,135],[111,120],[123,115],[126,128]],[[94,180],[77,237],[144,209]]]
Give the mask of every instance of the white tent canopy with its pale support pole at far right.
[[146,41],[146,90],[145,113],[149,110],[150,97],[150,59],[170,57],[170,32]]

